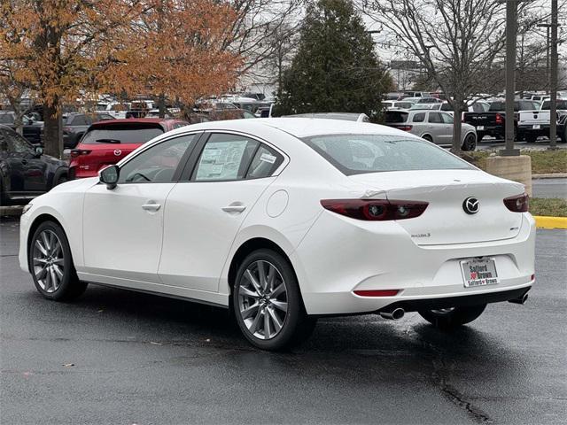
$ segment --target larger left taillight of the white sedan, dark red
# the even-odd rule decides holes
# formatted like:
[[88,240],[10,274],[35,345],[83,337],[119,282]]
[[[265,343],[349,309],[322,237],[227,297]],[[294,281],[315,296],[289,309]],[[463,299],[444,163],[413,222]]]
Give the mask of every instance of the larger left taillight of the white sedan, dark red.
[[429,203],[387,199],[322,199],[326,210],[352,219],[384,221],[413,219],[423,214]]

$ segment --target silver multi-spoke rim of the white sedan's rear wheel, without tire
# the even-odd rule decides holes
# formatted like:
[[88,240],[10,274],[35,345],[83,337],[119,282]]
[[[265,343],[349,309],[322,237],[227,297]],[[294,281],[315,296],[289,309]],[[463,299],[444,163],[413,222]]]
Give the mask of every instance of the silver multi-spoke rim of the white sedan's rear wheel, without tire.
[[287,316],[287,287],[282,274],[268,261],[252,262],[245,269],[237,291],[238,310],[245,327],[259,339],[271,339],[283,328]]

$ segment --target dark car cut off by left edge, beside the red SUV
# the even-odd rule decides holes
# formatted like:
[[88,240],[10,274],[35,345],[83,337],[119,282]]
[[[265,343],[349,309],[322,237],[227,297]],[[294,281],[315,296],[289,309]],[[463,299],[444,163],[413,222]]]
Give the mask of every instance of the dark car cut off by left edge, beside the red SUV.
[[0,125],[0,205],[24,205],[66,182],[64,161],[43,155],[12,128]]

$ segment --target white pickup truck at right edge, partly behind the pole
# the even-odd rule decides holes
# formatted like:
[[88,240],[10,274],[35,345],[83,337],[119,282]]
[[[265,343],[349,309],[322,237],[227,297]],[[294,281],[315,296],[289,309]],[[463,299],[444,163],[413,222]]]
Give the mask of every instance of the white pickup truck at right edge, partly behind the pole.
[[[521,111],[517,120],[517,140],[533,143],[540,135],[549,137],[549,116],[549,100],[545,100],[539,110]],[[562,143],[567,143],[567,98],[557,99],[557,135]]]

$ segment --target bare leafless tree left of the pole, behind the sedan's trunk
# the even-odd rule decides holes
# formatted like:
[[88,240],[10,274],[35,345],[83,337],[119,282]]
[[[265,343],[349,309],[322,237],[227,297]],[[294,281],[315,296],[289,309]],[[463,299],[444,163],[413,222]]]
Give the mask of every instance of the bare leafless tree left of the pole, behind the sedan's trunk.
[[[505,2],[497,0],[364,0],[363,12],[417,58],[453,107],[453,145],[461,151],[461,112],[481,92],[501,87]],[[518,15],[535,7],[518,2]],[[541,16],[538,19],[542,19]],[[532,25],[538,19],[532,19]],[[524,25],[529,28],[530,25]]]

